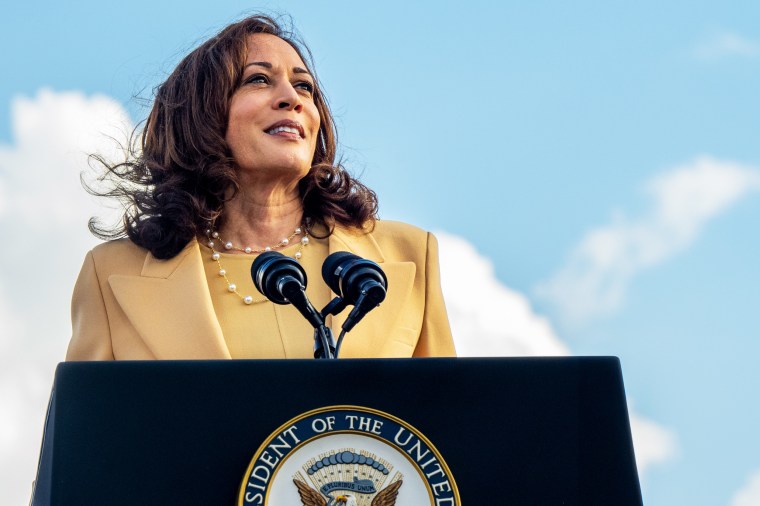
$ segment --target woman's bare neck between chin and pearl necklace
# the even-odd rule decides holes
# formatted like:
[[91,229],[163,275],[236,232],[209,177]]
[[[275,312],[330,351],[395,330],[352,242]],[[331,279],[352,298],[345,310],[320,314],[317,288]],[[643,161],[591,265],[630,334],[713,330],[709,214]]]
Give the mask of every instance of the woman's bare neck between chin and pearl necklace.
[[219,235],[225,241],[253,249],[272,247],[290,237],[303,220],[297,189],[279,192],[238,192],[224,206]]

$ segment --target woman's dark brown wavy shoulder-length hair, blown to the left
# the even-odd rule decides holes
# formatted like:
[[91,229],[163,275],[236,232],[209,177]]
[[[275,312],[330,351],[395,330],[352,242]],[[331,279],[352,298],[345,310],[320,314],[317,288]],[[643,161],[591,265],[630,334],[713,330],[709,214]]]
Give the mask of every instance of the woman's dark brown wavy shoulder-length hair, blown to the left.
[[[101,239],[127,236],[157,258],[172,258],[209,223],[224,220],[224,203],[238,190],[237,166],[225,133],[233,93],[240,86],[249,35],[275,35],[290,44],[314,77],[320,127],[309,173],[299,182],[304,223],[332,233],[336,224],[371,229],[377,196],[336,163],[337,132],[313,69],[309,49],[292,30],[264,15],[227,26],[187,55],[155,92],[139,146],[126,148],[126,161],[102,164],[111,187],[88,190],[125,203],[123,222],[104,228],[90,220]],[[309,223],[307,223],[307,220]]]

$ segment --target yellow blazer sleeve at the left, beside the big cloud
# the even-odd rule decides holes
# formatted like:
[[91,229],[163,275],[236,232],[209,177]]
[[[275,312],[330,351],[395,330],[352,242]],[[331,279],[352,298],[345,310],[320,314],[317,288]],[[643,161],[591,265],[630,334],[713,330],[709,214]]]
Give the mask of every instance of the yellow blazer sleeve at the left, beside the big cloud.
[[113,360],[111,331],[92,251],[87,253],[71,298],[72,336],[66,360]]

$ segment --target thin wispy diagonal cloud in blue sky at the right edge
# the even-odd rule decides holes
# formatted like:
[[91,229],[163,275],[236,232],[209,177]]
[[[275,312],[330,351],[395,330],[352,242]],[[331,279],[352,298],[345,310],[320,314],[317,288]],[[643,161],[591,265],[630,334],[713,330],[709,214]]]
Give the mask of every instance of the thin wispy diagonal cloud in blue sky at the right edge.
[[688,248],[711,218],[760,190],[760,171],[703,157],[656,176],[646,189],[647,214],[592,229],[567,264],[536,288],[568,322],[616,311],[636,274]]

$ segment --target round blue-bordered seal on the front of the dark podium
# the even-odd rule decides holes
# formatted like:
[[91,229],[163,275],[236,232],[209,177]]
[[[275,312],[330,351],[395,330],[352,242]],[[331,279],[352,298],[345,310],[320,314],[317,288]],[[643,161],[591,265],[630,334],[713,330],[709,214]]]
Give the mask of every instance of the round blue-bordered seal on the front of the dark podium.
[[460,506],[438,450],[387,413],[331,406],[304,413],[259,447],[238,505]]

